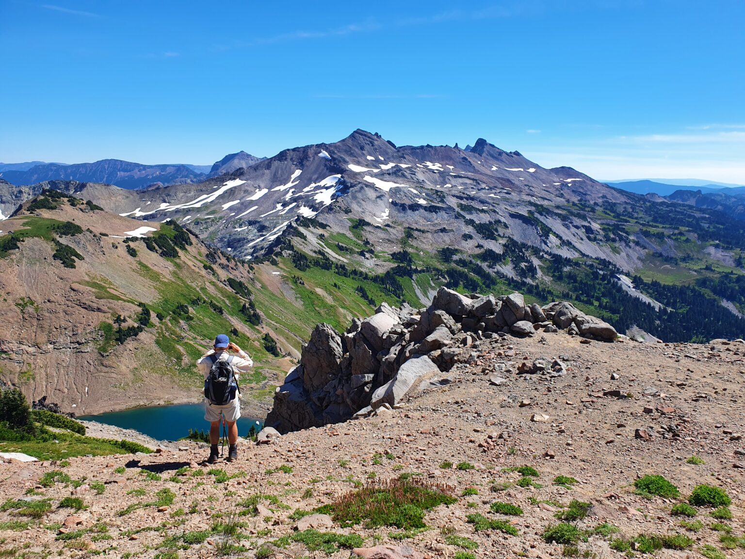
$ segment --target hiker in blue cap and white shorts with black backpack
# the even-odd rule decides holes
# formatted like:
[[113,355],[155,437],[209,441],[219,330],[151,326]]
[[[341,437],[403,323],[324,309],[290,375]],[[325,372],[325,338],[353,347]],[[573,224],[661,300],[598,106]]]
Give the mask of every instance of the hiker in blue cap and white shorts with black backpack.
[[[231,351],[238,355],[229,355],[228,352]],[[204,375],[204,419],[209,421],[207,464],[215,464],[218,460],[220,423],[223,416],[228,429],[227,461],[235,461],[238,459],[238,426],[235,422],[241,417],[238,373],[247,373],[253,367],[253,361],[244,350],[232,344],[225,334],[220,334],[215,338],[214,349],[197,360],[197,367]]]

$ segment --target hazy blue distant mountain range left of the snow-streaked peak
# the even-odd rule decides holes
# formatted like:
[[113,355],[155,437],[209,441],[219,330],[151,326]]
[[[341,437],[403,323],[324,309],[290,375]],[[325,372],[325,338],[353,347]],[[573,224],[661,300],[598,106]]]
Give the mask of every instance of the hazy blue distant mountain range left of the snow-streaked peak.
[[199,183],[232,173],[261,161],[245,151],[229,154],[214,165],[144,165],[122,160],[101,160],[92,163],[0,163],[0,177],[16,186],[32,185],[48,180],[74,180],[79,183],[106,183],[122,189],[135,190],[148,186]]

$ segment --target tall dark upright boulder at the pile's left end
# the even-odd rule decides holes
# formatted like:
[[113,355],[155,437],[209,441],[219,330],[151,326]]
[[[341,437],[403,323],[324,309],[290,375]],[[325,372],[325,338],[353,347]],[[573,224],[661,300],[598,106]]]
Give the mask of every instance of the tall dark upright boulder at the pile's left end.
[[305,390],[317,391],[339,376],[343,356],[339,332],[326,323],[316,326],[311,332],[310,341],[302,348],[300,357],[302,385]]

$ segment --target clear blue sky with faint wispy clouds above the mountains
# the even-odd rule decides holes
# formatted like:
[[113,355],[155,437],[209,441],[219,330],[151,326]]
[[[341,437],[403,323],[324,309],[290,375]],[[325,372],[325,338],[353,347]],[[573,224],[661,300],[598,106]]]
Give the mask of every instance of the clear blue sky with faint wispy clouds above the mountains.
[[361,127],[745,183],[743,22],[741,0],[0,0],[0,161],[211,164]]

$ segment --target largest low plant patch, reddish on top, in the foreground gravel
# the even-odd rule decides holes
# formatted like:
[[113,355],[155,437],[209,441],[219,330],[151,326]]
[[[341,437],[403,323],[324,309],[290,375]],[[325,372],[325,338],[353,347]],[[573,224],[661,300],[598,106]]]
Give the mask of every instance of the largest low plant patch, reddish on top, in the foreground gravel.
[[425,528],[426,511],[457,501],[451,493],[452,488],[445,484],[419,478],[373,480],[317,508],[317,512],[331,514],[344,526],[364,522],[368,528]]

